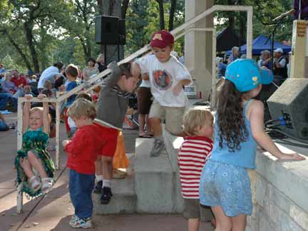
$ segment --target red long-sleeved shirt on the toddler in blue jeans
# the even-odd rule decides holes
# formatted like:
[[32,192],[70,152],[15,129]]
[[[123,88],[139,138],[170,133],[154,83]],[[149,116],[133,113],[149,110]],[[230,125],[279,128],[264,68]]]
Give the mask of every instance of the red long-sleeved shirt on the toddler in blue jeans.
[[66,166],[77,173],[94,174],[95,161],[105,141],[94,125],[79,128],[65,150],[68,153]]

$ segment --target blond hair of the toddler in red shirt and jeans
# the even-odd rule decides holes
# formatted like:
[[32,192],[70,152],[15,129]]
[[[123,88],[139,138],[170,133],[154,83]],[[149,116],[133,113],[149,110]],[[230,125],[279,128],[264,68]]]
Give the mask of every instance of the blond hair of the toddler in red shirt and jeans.
[[67,115],[71,118],[81,118],[85,116],[86,118],[91,118],[92,120],[96,118],[96,108],[94,104],[85,98],[78,98],[73,104],[68,108]]

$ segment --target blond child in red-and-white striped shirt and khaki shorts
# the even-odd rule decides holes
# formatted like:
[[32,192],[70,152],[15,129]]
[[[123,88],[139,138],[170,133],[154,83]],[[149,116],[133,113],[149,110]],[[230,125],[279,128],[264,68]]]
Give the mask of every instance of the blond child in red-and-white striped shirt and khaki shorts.
[[190,109],[183,119],[185,141],[180,147],[178,165],[184,198],[183,216],[188,219],[188,230],[199,230],[200,218],[212,220],[209,208],[199,203],[200,175],[212,150],[213,116],[210,111]]

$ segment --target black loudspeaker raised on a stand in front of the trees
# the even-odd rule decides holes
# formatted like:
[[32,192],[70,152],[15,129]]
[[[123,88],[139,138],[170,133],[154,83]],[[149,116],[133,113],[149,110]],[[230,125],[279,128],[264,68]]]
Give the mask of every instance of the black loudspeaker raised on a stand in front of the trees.
[[97,16],[95,40],[98,44],[124,45],[125,20],[112,16]]

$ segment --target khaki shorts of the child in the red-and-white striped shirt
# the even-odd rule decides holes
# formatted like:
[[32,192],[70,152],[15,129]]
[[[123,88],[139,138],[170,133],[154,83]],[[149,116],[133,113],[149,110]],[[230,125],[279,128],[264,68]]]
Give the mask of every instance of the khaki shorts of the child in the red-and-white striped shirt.
[[203,222],[214,218],[210,207],[200,205],[199,199],[184,199],[183,217],[186,219],[199,218]]

